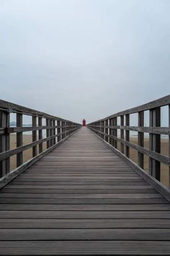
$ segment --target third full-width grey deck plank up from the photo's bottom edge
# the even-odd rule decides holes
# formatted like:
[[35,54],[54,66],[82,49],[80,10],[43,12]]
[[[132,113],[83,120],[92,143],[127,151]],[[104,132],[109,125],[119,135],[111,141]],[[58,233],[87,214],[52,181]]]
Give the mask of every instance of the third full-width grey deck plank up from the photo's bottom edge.
[[[39,207],[40,205],[38,205]],[[105,205],[106,206],[106,205]],[[170,219],[0,219],[0,226],[10,228],[170,228]]]

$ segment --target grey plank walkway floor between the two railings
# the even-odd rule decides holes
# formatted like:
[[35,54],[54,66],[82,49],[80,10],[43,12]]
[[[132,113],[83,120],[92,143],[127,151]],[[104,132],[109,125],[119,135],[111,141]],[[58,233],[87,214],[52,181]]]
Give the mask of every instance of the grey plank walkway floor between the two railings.
[[0,255],[170,254],[170,203],[86,127],[0,204]]

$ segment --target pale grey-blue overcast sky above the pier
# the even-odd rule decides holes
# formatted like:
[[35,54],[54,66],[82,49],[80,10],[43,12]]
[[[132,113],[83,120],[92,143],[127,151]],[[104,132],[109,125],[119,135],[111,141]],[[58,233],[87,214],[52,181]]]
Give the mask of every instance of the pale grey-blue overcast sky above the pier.
[[88,123],[168,95],[169,14],[169,0],[0,0],[0,98]]

